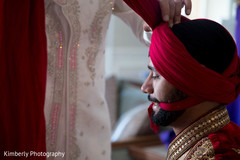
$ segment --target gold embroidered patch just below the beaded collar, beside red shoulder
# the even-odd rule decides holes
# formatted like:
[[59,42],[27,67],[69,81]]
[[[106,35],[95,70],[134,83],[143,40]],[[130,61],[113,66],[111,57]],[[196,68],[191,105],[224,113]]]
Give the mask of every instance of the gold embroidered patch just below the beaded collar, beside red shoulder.
[[213,145],[208,137],[201,139],[186,156],[186,160],[214,160]]

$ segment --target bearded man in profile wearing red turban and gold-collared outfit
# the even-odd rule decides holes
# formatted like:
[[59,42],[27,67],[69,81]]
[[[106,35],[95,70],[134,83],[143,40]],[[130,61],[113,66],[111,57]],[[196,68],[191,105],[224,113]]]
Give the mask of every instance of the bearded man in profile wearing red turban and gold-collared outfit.
[[156,0],[125,0],[152,28],[149,76],[151,127],[173,127],[176,137],[168,160],[240,159],[240,127],[230,121],[226,104],[240,93],[240,58],[229,32],[208,20],[169,27],[160,21]]

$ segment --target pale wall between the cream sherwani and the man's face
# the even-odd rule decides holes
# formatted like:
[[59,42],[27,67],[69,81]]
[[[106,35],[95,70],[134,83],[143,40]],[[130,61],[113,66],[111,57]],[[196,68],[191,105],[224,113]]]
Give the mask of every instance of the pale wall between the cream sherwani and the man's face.
[[118,17],[112,16],[106,39],[106,75],[141,80],[147,63],[148,47]]

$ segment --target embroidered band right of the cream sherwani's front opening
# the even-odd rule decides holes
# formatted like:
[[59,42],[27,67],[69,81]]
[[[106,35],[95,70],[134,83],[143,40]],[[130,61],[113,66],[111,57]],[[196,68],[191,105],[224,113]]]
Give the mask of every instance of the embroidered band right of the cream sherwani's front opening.
[[71,39],[70,39],[70,46],[69,46],[69,53],[68,59],[67,72],[69,75],[66,88],[68,89],[68,109],[71,109],[69,113],[69,159],[77,159],[80,156],[80,148],[77,145],[77,138],[76,138],[76,130],[75,130],[75,118],[76,118],[76,103],[77,103],[77,68],[78,68],[78,54],[77,49],[79,46],[79,40],[81,36],[81,24],[79,21],[79,14],[80,14],[80,5],[77,0],[68,0],[67,5],[63,6],[62,8],[64,15],[69,21],[70,29],[71,29]]

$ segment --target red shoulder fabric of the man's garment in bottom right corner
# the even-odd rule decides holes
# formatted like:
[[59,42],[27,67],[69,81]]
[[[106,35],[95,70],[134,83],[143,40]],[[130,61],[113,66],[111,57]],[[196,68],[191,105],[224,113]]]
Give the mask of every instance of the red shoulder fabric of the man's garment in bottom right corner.
[[210,134],[216,160],[239,160],[240,154],[234,149],[240,149],[240,127],[230,122],[224,128]]

